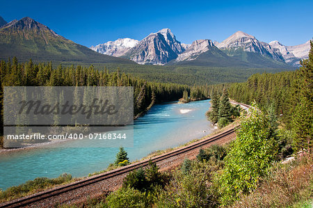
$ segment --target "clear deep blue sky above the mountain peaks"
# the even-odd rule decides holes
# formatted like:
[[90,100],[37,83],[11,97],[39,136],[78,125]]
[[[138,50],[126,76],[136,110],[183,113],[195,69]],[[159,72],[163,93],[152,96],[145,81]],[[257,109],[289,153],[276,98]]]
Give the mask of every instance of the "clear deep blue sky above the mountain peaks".
[[313,38],[313,1],[7,1],[7,22],[32,17],[90,47],[118,38],[141,40],[170,28],[177,40],[224,40],[236,31],[299,45]]

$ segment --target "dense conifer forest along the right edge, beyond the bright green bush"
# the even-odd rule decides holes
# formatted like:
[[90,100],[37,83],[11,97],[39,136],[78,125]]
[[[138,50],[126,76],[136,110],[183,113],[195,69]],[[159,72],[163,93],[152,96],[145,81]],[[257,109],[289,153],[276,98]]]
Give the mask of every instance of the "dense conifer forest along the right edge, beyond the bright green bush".
[[280,125],[294,135],[296,150],[312,152],[313,134],[313,42],[309,58],[294,72],[253,74],[244,83],[228,86],[230,98],[263,109],[273,109]]

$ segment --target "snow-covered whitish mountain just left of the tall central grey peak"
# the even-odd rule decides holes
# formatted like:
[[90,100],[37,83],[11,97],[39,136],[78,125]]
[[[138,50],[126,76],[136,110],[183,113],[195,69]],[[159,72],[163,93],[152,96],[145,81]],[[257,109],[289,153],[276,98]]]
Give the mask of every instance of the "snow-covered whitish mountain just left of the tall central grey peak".
[[97,46],[92,46],[90,49],[97,51],[100,54],[106,54],[109,56],[123,56],[132,47],[138,44],[138,40],[131,38],[120,38],[115,41],[109,41],[106,43],[99,44]]

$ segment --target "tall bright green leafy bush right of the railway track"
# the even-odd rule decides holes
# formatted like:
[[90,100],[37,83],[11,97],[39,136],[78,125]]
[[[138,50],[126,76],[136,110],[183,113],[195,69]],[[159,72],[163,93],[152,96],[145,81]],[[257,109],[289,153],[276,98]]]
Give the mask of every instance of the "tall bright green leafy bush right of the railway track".
[[241,193],[254,190],[271,167],[276,153],[275,134],[269,118],[252,104],[224,159],[225,169],[220,176],[222,204],[230,205]]

